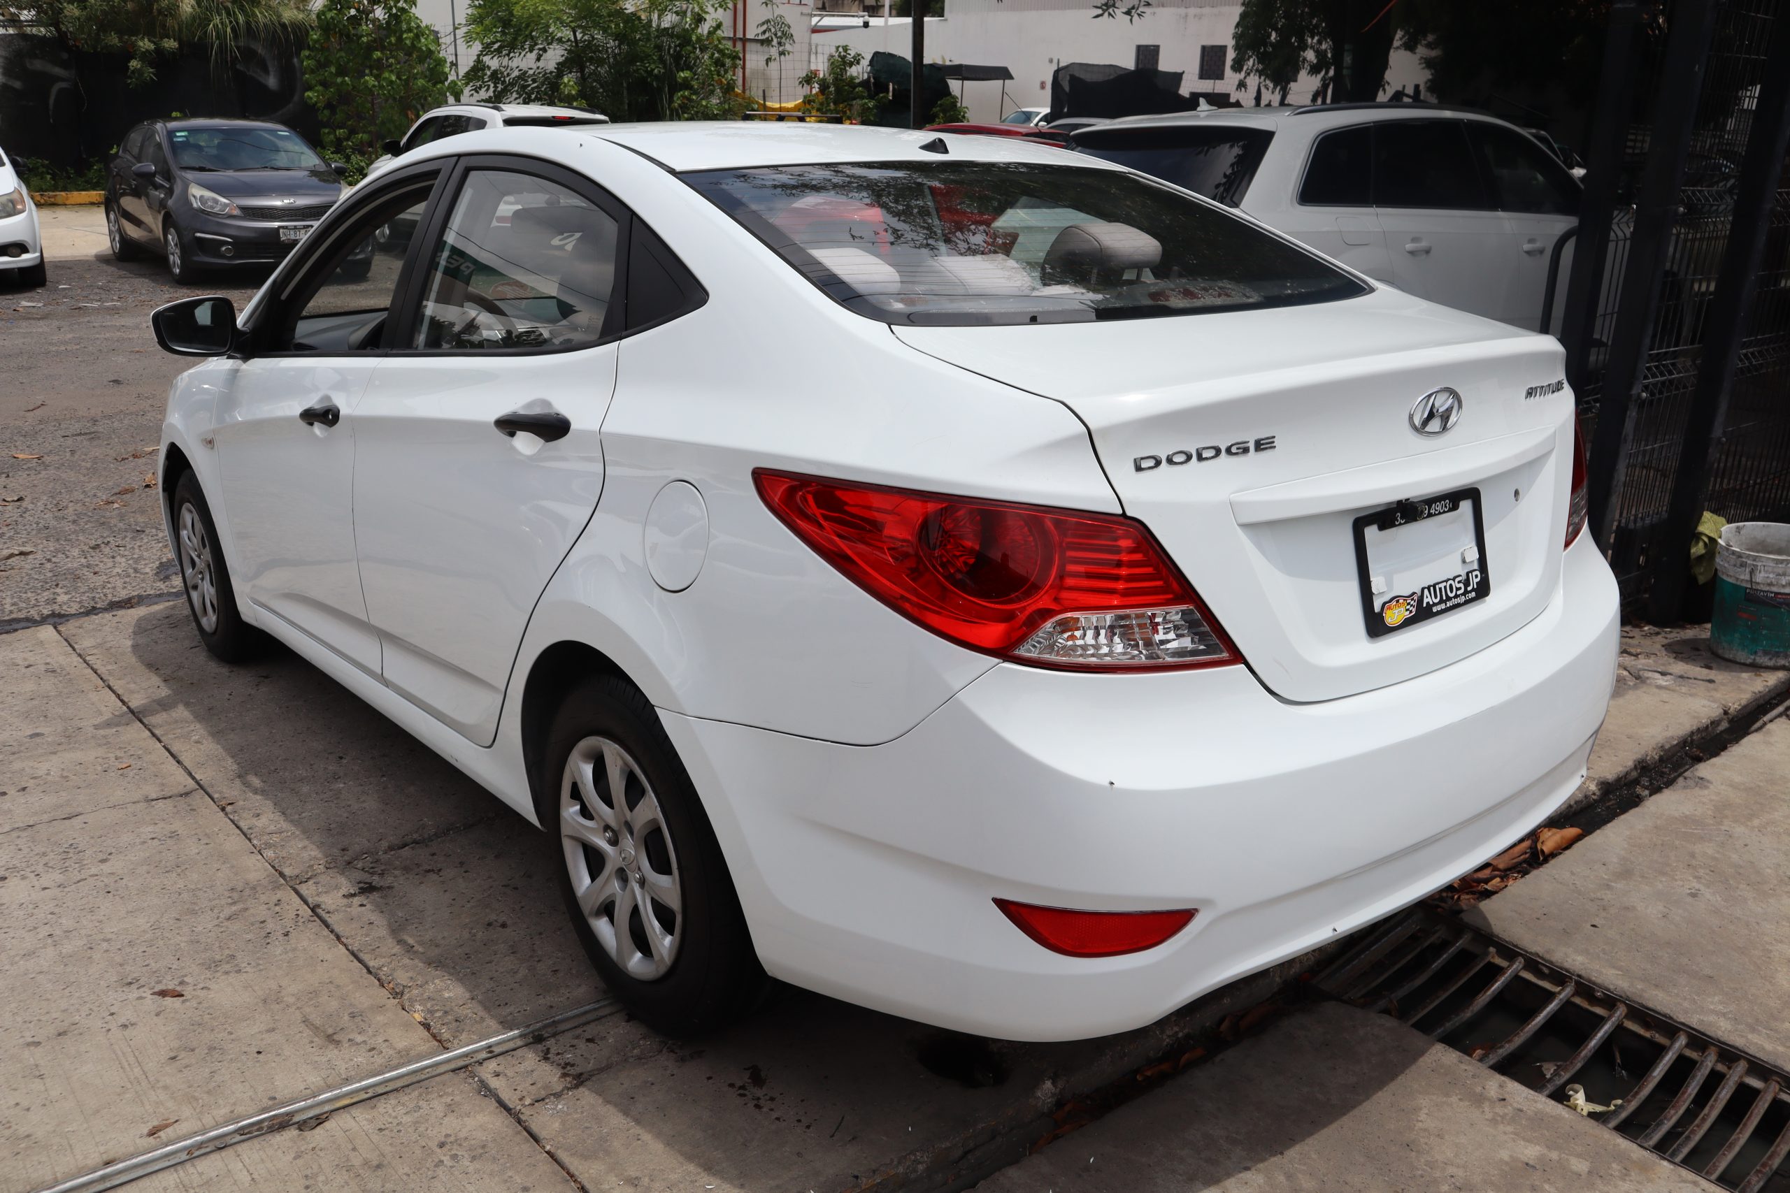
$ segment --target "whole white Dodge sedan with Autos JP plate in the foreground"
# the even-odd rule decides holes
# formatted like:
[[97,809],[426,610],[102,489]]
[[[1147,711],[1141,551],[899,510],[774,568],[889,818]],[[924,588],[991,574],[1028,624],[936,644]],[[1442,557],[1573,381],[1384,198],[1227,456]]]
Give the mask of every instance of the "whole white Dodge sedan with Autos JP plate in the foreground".
[[1609,699],[1554,340],[1054,147],[474,132],[154,324],[199,637],[546,828],[664,1032],[1149,1023],[1530,830]]

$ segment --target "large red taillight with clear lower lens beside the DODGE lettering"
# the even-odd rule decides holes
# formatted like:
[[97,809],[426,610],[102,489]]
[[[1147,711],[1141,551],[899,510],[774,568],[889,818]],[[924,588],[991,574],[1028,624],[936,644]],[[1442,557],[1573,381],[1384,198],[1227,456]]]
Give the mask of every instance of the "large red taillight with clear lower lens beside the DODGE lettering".
[[1142,526],[759,469],[764,504],[904,617],[1045,667],[1212,667],[1237,651]]

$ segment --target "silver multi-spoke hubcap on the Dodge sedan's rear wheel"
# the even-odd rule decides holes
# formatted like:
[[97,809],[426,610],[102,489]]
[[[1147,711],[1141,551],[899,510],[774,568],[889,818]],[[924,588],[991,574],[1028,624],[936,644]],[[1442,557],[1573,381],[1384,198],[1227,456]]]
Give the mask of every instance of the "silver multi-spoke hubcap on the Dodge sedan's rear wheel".
[[684,941],[684,887],[652,785],[616,742],[587,737],[560,778],[560,844],[578,910],[616,964],[662,978]]

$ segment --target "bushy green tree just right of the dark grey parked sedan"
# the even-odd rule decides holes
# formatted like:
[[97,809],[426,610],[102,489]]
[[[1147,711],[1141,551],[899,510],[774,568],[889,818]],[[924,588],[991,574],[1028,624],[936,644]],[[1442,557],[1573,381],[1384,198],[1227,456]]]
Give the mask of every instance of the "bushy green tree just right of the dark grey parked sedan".
[[379,141],[403,136],[449,93],[440,39],[415,0],[322,0],[303,63],[324,154],[345,161],[353,177]]

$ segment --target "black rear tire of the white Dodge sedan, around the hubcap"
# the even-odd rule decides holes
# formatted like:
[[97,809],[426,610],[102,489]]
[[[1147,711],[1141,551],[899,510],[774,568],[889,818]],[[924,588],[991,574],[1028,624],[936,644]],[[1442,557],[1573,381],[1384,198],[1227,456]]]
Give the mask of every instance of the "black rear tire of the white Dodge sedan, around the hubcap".
[[[573,749],[589,753],[591,742],[609,742],[632,760],[635,773],[643,780],[639,794],[632,780],[625,782],[628,791],[630,814],[643,814],[650,805],[657,805],[659,819],[666,839],[655,851],[652,826],[634,841],[632,825],[619,842],[639,844],[639,860],[634,862],[632,885],[650,889],[641,882],[641,869],[673,873],[680,909],[666,928],[666,905],[643,909],[634,903],[628,925],[628,939],[635,953],[646,953],[644,926],[635,918],[653,914],[661,930],[675,939],[675,953],[669,966],[655,977],[637,977],[630,973],[623,960],[610,953],[610,948],[625,950],[616,939],[616,907],[598,907],[596,916],[609,921],[609,935],[616,944],[598,939],[598,926],[585,916],[578,903],[578,889],[573,880],[573,857],[584,859],[585,889],[610,891],[614,871],[628,869],[623,860],[614,866],[607,855],[598,853],[591,844],[562,833],[560,803],[566,798],[567,783],[576,792],[578,810],[585,796],[567,774],[567,762]],[[601,758],[603,755],[600,755]],[[598,760],[596,769],[603,769]],[[739,896],[734,893],[734,880],[727,873],[727,860],[721,846],[714,839],[709,817],[696,798],[696,789],[684,771],[671,740],[666,737],[657,714],[641,692],[618,676],[596,676],[573,689],[553,717],[548,746],[542,758],[542,774],[537,782],[541,823],[548,830],[550,857],[553,871],[558,875],[560,896],[571,916],[578,943],[591,957],[591,964],[610,993],[648,1027],[671,1037],[700,1036],[725,1027],[745,1014],[750,1014],[770,991],[770,978],[759,966],[752,948],[752,935],[746,930],[746,918],[739,909]],[[598,792],[605,800],[605,792]],[[607,805],[605,807],[612,807]],[[603,808],[584,814],[596,828],[603,828]],[[650,812],[648,812],[650,816]],[[619,853],[616,857],[626,857]],[[655,860],[648,860],[655,857]],[[669,867],[668,867],[669,862]],[[607,867],[607,869],[603,869]],[[591,873],[603,873],[605,882],[589,880]],[[628,885],[626,873],[621,875],[621,887]],[[601,894],[598,896],[601,898]],[[614,900],[614,894],[607,898]],[[657,953],[639,957],[646,964],[657,964]]]

